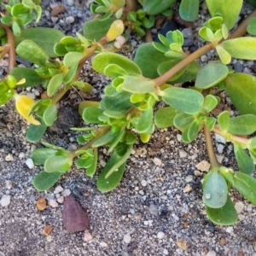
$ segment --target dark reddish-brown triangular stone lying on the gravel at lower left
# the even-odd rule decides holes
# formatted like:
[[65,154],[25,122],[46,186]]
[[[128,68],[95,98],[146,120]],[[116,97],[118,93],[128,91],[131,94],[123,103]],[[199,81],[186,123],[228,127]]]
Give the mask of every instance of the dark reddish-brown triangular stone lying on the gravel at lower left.
[[84,209],[72,195],[67,195],[64,201],[62,212],[62,222],[64,228],[69,233],[84,231],[89,229],[89,219]]

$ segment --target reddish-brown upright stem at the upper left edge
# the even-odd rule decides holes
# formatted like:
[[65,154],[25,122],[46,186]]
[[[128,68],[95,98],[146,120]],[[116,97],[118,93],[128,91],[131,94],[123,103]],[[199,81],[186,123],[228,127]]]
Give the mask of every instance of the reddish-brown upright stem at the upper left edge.
[[9,63],[8,63],[8,73],[16,66],[16,60],[15,60],[15,36],[13,32],[9,29],[8,26],[3,25],[0,23],[0,26],[3,27],[3,29],[6,32],[7,35],[7,45],[9,46]]

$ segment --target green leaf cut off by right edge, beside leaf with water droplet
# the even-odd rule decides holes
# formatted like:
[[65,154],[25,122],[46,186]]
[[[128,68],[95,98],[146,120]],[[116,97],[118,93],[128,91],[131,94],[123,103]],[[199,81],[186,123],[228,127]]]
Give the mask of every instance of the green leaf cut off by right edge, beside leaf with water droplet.
[[256,179],[243,172],[235,172],[232,186],[248,201],[256,205]]

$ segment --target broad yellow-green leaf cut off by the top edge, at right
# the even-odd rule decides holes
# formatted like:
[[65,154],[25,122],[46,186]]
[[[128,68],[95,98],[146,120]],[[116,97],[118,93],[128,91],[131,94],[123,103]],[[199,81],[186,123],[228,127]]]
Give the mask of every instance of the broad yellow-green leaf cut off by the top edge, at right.
[[[229,30],[236,24],[241,11],[242,0],[226,0],[225,3],[222,0],[206,0],[206,2],[212,17],[217,14],[222,16],[223,22]],[[232,11],[230,7],[232,7]]]

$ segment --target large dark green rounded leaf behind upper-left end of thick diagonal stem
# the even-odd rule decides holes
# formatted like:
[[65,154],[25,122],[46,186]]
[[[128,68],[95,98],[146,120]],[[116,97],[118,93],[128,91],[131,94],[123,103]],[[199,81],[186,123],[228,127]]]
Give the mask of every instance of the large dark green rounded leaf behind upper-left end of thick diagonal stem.
[[142,44],[136,52],[135,63],[143,72],[143,76],[148,79],[156,79],[159,77],[157,67],[166,61],[170,61],[164,53],[157,49],[151,43]]

